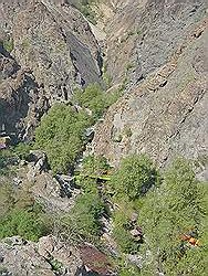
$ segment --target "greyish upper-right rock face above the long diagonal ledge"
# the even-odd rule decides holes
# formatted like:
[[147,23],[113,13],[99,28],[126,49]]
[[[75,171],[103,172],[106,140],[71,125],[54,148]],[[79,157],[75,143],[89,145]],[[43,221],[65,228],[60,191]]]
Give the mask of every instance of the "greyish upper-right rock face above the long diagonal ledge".
[[106,25],[106,65],[113,83],[138,83],[165,64],[205,13],[204,0],[117,1]]

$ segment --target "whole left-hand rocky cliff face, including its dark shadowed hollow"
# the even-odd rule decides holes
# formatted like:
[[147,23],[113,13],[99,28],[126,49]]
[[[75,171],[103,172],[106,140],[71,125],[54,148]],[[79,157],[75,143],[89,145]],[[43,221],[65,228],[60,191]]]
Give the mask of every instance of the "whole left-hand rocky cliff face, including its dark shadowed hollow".
[[77,10],[61,4],[0,2],[0,95],[6,110],[0,124],[23,129],[21,138],[54,102],[67,102],[74,87],[102,83],[100,46],[89,23]]

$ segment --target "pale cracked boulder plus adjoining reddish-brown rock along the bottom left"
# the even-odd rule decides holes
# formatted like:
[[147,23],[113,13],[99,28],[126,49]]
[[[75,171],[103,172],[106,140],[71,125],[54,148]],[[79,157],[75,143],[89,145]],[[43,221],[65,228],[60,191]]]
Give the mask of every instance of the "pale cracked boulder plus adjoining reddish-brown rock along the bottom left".
[[19,236],[0,243],[2,276],[87,276],[89,272],[112,275],[106,262],[106,256],[95,247],[83,245],[77,251],[53,235],[41,237],[38,243],[27,242]]

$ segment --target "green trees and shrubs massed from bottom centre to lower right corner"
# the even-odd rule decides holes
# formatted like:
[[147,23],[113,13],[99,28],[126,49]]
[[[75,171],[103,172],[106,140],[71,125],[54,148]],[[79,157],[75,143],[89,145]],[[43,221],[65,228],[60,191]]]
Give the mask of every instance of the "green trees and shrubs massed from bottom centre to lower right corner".
[[[205,189],[190,163],[178,159],[159,172],[149,158],[135,155],[113,172],[103,157],[90,156],[80,173],[76,183],[83,194],[66,217],[67,225],[73,225],[71,231],[81,238],[96,242],[102,234],[101,216],[111,216],[119,252],[146,256],[142,269],[116,261],[121,275],[206,275]],[[107,173],[110,182],[98,181]],[[113,212],[103,200],[106,198],[116,205]],[[137,219],[132,222],[134,213]],[[143,231],[142,240],[132,234],[136,227]],[[191,235],[199,244],[191,245],[183,235]]]

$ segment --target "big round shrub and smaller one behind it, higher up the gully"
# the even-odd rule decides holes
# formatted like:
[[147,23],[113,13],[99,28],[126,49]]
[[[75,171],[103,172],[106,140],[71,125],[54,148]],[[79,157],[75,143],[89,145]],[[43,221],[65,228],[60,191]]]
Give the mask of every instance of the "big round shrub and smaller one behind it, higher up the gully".
[[87,142],[86,129],[102,117],[117,99],[117,92],[107,95],[100,85],[77,89],[72,105],[56,104],[41,120],[35,130],[35,147],[43,149],[54,173],[72,170]]

